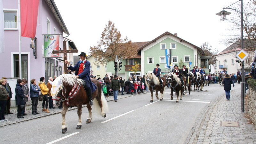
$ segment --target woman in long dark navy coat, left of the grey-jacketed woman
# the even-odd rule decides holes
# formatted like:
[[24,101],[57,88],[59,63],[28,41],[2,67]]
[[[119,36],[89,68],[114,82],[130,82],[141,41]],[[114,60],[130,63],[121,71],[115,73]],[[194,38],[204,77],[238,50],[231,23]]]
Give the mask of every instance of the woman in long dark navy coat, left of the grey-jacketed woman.
[[16,88],[15,88],[15,101],[16,101],[16,105],[18,106],[17,108],[17,117],[18,118],[24,118],[23,116],[21,116],[21,108],[20,108],[20,105],[24,105],[25,102],[24,102],[24,92],[23,92],[23,89],[22,89],[22,81],[21,79],[17,79],[17,84],[16,84]]

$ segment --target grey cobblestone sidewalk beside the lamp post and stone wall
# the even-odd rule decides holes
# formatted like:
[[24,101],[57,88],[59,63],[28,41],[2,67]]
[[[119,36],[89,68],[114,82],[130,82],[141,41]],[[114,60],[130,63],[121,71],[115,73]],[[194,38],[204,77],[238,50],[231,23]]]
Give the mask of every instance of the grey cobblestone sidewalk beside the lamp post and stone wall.
[[241,90],[225,94],[201,113],[188,136],[188,144],[196,143],[256,143],[256,126],[241,112]]

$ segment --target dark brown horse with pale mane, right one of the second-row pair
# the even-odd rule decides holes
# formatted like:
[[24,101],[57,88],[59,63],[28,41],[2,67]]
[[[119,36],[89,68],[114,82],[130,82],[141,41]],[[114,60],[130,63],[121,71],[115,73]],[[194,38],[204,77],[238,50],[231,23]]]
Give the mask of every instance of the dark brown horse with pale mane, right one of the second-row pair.
[[[173,100],[172,96],[173,96],[173,92],[175,92],[177,95],[176,103],[179,103],[179,95],[180,95],[180,100],[182,100],[182,95],[184,92],[180,78],[175,73],[170,72],[168,74],[167,82],[170,84],[170,88],[171,88],[171,100]],[[180,94],[179,94],[179,92],[180,92]]]

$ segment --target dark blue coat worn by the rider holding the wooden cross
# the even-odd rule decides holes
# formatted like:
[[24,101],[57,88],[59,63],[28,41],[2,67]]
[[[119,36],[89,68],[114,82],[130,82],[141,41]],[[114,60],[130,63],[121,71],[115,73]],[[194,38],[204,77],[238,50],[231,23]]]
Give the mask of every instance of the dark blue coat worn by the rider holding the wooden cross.
[[[71,71],[74,71],[74,70],[76,71],[76,76],[78,74],[78,69],[80,67],[80,63],[81,63],[81,60],[78,61],[74,67],[72,67],[72,66],[68,67],[68,69],[70,69]],[[90,78],[90,67],[91,67],[91,63],[88,60],[86,60],[84,63],[84,70],[78,76],[79,76],[79,78],[83,79],[86,82],[86,84],[90,84],[91,91],[93,93],[93,92],[95,92],[97,87],[95,84],[92,84],[92,81]]]

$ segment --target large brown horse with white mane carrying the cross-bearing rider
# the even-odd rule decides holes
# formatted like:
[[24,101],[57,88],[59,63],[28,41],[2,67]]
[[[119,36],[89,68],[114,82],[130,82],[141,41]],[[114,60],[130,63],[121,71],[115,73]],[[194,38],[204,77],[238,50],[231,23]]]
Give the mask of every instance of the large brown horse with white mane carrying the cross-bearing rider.
[[[101,92],[100,82],[96,79],[92,79],[92,82],[97,86],[96,91],[92,93],[92,98],[94,99],[93,108],[95,108],[102,117],[106,117],[105,112],[108,111],[108,104],[104,94]],[[61,111],[62,133],[65,133],[68,130],[65,116],[68,108],[70,107],[77,107],[78,123],[76,129],[81,129],[82,127],[81,115],[82,105],[84,104],[87,105],[89,112],[89,117],[86,120],[86,124],[89,124],[92,121],[92,106],[89,105],[89,97],[84,89],[85,84],[86,83],[84,80],[78,79],[76,76],[70,74],[60,75],[52,83],[51,94],[53,104],[58,106],[60,101],[63,102]]]

